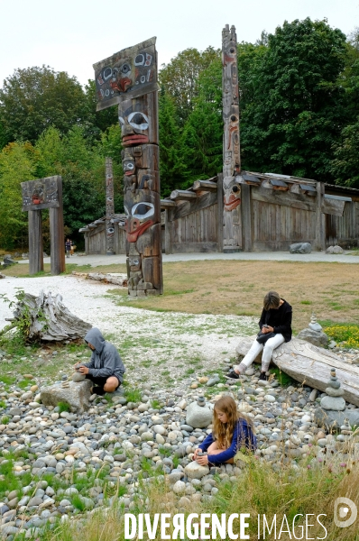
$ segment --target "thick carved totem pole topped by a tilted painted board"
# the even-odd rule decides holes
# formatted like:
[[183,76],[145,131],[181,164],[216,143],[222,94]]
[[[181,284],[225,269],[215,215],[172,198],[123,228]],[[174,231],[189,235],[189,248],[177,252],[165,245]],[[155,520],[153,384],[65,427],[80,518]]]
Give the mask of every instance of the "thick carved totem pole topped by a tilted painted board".
[[156,38],[94,64],[97,111],[118,104],[128,293],[163,292]]

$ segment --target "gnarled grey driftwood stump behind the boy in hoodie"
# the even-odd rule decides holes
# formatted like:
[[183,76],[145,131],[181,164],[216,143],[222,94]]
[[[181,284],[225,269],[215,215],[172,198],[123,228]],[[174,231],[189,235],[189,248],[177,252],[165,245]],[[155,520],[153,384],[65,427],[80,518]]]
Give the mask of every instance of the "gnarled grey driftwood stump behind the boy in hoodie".
[[61,342],[83,338],[91,325],[69,312],[56,297],[41,290],[39,297],[19,293],[11,327],[22,326],[29,342]]

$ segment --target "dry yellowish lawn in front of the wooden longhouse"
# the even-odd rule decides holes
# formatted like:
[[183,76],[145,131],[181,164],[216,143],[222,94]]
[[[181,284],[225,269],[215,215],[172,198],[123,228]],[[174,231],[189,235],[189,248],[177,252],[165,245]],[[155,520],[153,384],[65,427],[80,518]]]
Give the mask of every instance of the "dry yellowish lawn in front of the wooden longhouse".
[[[125,265],[67,265],[67,273],[125,272]],[[28,276],[28,265],[3,271],[8,276]],[[50,273],[45,265],[44,274]],[[354,323],[359,320],[359,282],[355,265],[290,261],[176,261],[163,264],[164,294],[129,300],[126,289],[112,289],[126,306],[189,314],[260,316],[262,298],[278,290],[293,307],[293,329],[308,326],[314,310],[319,321]],[[104,286],[104,294],[106,293]]]

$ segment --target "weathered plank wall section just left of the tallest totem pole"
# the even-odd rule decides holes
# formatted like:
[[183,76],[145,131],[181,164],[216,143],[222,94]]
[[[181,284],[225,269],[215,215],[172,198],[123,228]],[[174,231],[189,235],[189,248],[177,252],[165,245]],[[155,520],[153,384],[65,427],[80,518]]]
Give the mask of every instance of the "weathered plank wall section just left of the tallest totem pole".
[[217,252],[217,204],[196,210],[171,222],[172,253]]

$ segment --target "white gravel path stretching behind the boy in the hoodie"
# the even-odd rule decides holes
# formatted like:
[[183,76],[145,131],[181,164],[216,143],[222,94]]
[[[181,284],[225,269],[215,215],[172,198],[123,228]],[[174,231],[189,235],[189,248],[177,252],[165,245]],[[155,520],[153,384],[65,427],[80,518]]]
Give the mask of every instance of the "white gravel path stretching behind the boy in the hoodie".
[[[216,370],[220,360],[235,356],[239,337],[253,334],[257,328],[257,318],[253,317],[126,307],[125,300],[121,303],[108,293],[118,286],[74,276],[0,280],[0,295],[14,300],[17,289],[33,295],[41,289],[53,295],[60,293],[73,314],[97,326],[118,347],[127,375],[134,381],[165,383],[169,378],[189,378],[193,368],[196,374]],[[0,329],[6,325],[5,317],[11,316],[12,310],[0,299]]]

